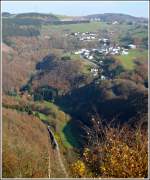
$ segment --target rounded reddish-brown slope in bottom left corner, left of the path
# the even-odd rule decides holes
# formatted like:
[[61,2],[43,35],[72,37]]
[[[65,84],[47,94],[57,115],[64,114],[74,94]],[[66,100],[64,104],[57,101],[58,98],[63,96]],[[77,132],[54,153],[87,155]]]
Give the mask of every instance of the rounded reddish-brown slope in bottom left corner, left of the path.
[[3,132],[3,177],[47,177],[51,147],[46,127],[37,118],[4,108]]

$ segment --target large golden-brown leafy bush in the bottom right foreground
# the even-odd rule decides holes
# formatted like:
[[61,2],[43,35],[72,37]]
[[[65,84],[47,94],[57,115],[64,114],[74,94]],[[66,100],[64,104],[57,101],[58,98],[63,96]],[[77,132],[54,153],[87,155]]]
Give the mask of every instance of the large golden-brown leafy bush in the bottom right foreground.
[[105,128],[105,140],[83,152],[86,166],[103,178],[144,178],[148,172],[147,133],[127,126]]

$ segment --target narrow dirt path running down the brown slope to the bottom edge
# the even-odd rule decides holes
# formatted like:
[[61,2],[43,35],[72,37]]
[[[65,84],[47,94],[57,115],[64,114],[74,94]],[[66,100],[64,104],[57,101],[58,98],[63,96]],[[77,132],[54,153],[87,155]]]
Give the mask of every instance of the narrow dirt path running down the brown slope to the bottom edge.
[[52,150],[49,153],[48,176],[49,176],[49,178],[54,177],[54,176],[55,177],[56,176],[61,176],[63,178],[67,178],[68,173],[67,173],[66,168],[64,166],[58,143],[57,143],[57,141],[55,139],[55,136],[54,136],[53,132],[50,129],[50,126],[48,126],[47,129],[48,129],[48,132],[49,132],[50,141],[51,141],[51,145],[52,145]]

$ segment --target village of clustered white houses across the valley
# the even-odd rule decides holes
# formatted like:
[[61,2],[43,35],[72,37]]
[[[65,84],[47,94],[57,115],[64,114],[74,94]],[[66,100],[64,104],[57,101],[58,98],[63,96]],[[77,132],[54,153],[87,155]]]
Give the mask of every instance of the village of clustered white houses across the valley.
[[108,79],[106,75],[103,75],[103,59],[105,56],[126,56],[129,54],[129,49],[136,49],[136,45],[129,44],[126,48],[111,43],[108,38],[98,38],[96,33],[93,32],[85,32],[85,33],[72,33],[75,37],[78,37],[79,40],[82,41],[92,41],[98,40],[99,47],[98,48],[82,48],[75,52],[75,55],[80,55],[81,58],[87,59],[96,64],[96,67],[90,69],[91,74],[94,77],[98,77],[100,75],[101,80]]

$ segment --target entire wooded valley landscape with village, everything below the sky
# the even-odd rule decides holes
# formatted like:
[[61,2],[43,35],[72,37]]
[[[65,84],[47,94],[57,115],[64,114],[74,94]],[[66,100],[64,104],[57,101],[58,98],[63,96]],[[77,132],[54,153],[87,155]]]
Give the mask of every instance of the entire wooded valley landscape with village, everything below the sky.
[[2,23],[3,177],[147,177],[147,19],[5,12]]

